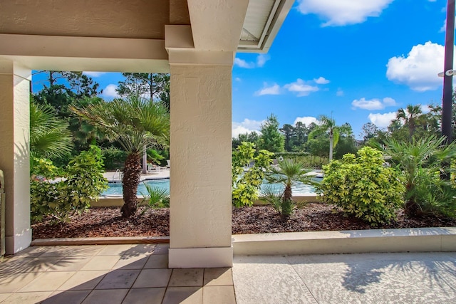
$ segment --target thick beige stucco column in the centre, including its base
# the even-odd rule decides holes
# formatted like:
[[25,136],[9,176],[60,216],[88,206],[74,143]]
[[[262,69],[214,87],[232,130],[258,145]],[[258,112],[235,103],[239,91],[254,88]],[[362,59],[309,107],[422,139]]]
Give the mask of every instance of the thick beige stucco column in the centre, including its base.
[[233,53],[209,53],[170,53],[170,268],[232,266]]

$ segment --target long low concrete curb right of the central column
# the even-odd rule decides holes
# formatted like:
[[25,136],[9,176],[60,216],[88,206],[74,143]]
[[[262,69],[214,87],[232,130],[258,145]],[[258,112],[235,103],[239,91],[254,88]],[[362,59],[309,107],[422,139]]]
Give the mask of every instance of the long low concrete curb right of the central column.
[[234,256],[456,251],[456,227],[239,234],[233,249]]

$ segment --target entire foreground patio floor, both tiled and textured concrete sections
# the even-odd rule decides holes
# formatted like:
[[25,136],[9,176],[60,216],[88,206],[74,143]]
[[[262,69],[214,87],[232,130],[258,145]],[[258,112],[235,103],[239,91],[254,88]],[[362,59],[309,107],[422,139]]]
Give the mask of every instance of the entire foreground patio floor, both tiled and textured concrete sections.
[[0,303],[456,303],[454,252],[235,256],[233,268],[168,269],[167,248],[27,248],[0,262]]

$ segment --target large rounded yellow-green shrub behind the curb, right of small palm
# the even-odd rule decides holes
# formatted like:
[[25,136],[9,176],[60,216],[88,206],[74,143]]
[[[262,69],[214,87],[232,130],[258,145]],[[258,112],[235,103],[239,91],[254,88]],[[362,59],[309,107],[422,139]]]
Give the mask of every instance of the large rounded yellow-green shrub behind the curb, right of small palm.
[[405,187],[395,169],[383,166],[380,151],[363,147],[323,166],[325,176],[317,187],[324,201],[372,226],[395,219],[403,204]]

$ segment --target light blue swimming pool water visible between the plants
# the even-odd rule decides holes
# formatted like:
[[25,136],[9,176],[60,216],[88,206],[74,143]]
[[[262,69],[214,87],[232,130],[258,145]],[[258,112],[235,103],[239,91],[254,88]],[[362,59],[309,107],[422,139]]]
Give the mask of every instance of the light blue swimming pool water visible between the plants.
[[[170,179],[150,179],[150,180],[145,180],[144,182],[140,182],[138,186],[138,195],[147,195],[147,190],[145,189],[144,184],[149,184],[152,187],[158,187],[162,189],[167,189],[167,191],[170,191]],[[266,182],[261,184],[261,189],[267,185]],[[274,189],[281,190],[283,191],[284,186],[281,184],[271,184],[273,185]],[[303,184],[301,182],[297,182],[296,185],[293,187],[293,194],[309,194],[309,193],[314,193],[315,188],[308,185],[308,184]],[[101,195],[103,196],[121,196],[123,194],[122,192],[122,184],[121,183],[109,183],[109,188],[103,192]]]

